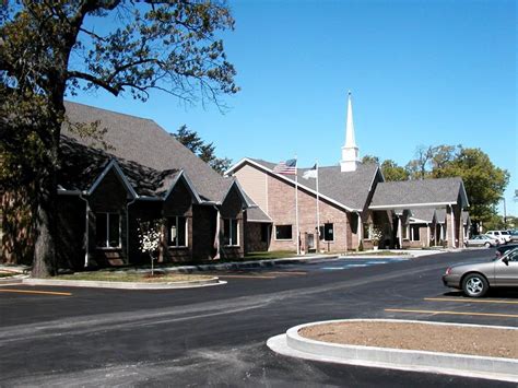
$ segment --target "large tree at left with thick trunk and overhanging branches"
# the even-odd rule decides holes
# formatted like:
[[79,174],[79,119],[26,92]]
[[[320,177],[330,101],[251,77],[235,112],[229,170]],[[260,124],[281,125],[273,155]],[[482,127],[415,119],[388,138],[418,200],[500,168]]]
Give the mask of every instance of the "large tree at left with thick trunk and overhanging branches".
[[34,275],[56,271],[66,93],[101,89],[145,101],[160,90],[221,107],[238,87],[216,33],[233,26],[225,4],[209,0],[0,3],[0,179],[3,192],[34,198],[26,204],[36,225]]

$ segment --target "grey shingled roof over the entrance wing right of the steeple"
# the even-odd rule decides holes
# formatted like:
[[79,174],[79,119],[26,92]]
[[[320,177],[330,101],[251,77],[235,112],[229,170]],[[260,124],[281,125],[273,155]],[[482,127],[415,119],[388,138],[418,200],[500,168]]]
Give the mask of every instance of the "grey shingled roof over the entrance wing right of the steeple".
[[370,208],[456,203],[459,195],[467,202],[461,178],[386,181],[377,186]]

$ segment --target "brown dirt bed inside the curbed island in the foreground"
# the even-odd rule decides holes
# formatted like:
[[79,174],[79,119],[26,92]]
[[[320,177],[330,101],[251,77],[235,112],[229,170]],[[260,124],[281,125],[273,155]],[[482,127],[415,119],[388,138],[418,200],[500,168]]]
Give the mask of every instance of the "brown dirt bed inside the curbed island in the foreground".
[[511,329],[353,321],[309,326],[298,334],[350,345],[518,358],[518,330]]

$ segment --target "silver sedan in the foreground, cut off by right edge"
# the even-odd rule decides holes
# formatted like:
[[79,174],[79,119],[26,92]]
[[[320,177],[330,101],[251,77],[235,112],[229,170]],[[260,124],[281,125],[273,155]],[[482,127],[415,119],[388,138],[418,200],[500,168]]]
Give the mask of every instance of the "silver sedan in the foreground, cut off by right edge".
[[484,296],[490,287],[518,287],[518,248],[492,261],[448,267],[443,283],[472,297]]

